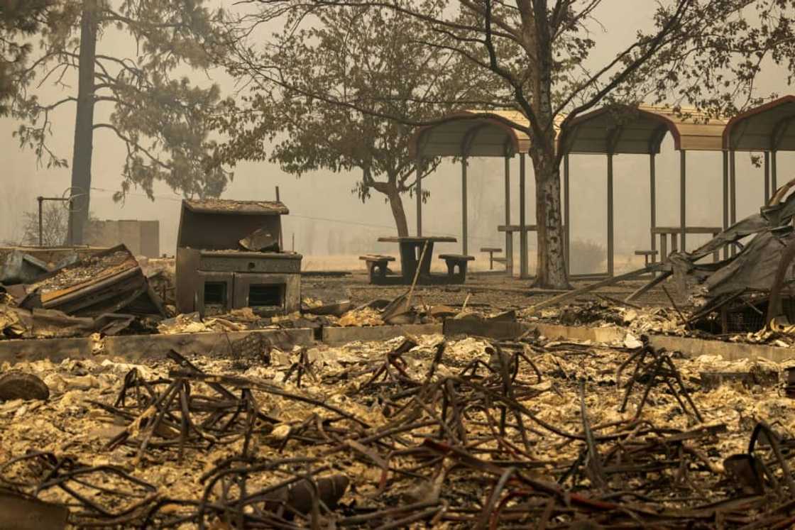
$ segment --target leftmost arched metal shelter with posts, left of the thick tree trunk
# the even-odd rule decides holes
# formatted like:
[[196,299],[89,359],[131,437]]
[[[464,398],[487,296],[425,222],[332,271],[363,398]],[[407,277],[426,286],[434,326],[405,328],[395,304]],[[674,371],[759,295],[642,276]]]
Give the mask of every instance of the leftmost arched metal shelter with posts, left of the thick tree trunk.
[[[529,127],[524,114],[514,110],[463,110],[444,117],[437,125],[418,128],[409,149],[417,159],[417,235],[422,235],[422,160],[426,157],[458,157],[461,160],[461,241],[467,253],[467,159],[502,157],[505,160],[505,221],[510,225],[510,158],[519,155],[519,252],[520,277],[528,277],[527,225],[525,219],[525,157],[529,137],[517,126]],[[513,273],[513,235],[506,232],[506,269]]]

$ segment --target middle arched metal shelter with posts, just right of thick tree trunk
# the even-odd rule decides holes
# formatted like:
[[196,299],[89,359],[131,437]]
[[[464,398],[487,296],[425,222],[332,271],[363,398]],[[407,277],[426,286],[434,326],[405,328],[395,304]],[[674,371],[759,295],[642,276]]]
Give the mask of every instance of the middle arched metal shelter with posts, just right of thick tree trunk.
[[[657,251],[657,200],[655,157],[665,134],[671,133],[674,148],[680,152],[680,237],[685,249],[687,152],[723,150],[726,120],[709,118],[695,109],[673,110],[661,106],[607,106],[572,118],[558,137],[558,149],[564,154],[564,226],[569,241],[569,155],[607,155],[607,274],[615,273],[613,226],[613,157],[617,154],[649,155],[651,250]],[[727,227],[727,157],[723,156],[723,228]],[[672,236],[673,240],[673,236]],[[665,250],[665,249],[661,249]],[[567,250],[568,253],[568,250]],[[665,256],[661,256],[665,259]]]

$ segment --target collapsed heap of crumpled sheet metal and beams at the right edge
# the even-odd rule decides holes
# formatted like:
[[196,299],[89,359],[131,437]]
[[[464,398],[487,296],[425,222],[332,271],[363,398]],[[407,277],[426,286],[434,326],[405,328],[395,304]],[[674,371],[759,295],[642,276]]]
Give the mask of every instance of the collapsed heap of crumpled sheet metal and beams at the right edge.
[[[696,335],[792,345],[793,187],[795,181],[785,184],[759,213],[735,223],[692,252],[672,253],[665,262],[553,296],[525,308],[521,315],[575,326],[618,325],[635,334]],[[719,253],[723,253],[722,260],[704,261]],[[595,292],[597,288],[637,280],[650,273],[652,280],[623,300]],[[656,287],[665,295],[665,307],[634,303]],[[597,300],[570,303],[585,294]]]

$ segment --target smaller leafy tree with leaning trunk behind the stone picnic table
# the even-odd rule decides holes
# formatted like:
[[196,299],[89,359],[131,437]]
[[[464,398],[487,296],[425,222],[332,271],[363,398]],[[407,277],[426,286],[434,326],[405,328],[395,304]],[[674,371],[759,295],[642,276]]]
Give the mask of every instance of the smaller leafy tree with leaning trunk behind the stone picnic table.
[[[288,14],[266,44],[238,38],[258,16],[230,21],[236,44],[228,66],[248,90],[224,120],[231,141],[223,159],[267,159],[297,176],[361,172],[353,191],[362,200],[373,190],[386,195],[398,234],[407,235],[400,195],[413,191],[417,175],[406,122],[499,105],[498,84],[442,46],[418,48],[447,37],[410,17],[353,6],[313,12],[305,25],[302,18]],[[425,161],[421,176],[438,163]]]

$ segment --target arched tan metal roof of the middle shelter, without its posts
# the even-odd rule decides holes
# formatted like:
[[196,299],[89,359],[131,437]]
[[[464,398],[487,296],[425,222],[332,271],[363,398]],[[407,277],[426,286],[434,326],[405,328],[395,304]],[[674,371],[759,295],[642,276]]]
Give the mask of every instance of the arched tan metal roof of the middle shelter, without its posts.
[[606,106],[573,118],[559,137],[566,153],[659,153],[666,133],[675,149],[720,151],[727,120],[695,108]]

